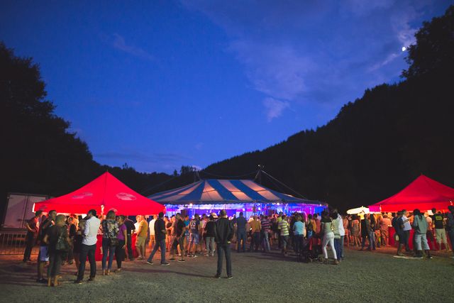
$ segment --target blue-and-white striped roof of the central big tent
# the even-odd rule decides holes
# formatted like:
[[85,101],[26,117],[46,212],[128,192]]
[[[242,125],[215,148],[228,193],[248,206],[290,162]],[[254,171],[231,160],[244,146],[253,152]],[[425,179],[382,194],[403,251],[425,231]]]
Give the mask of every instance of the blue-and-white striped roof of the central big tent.
[[264,187],[253,180],[200,180],[184,187],[158,192],[148,198],[161,204],[238,204],[238,203],[295,203],[319,204],[299,199]]

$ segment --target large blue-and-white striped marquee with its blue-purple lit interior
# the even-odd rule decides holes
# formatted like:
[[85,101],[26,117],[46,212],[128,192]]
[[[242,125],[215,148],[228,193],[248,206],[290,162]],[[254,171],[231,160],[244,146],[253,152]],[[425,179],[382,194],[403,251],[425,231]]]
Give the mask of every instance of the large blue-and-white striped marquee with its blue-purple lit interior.
[[319,201],[300,199],[264,187],[253,180],[206,179],[177,189],[158,192],[148,198],[164,204],[167,214],[209,214],[226,209],[228,216],[240,211],[245,216],[272,214],[276,211],[306,214],[319,213],[326,204]]

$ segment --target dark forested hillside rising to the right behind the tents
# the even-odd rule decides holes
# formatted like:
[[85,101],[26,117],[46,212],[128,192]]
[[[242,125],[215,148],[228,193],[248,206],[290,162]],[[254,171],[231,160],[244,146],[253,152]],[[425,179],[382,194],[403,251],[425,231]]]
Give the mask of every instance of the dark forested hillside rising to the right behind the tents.
[[238,175],[258,164],[310,199],[369,205],[421,173],[454,186],[454,6],[424,23],[399,84],[367,89],[316,131],[206,167]]

